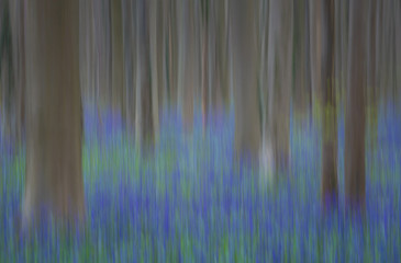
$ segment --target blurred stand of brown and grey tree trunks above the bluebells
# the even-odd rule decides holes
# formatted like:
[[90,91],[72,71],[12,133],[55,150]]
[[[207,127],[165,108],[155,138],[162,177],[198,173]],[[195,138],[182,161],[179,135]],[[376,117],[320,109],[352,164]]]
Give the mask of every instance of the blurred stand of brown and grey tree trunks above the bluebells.
[[318,127],[321,204],[342,193],[365,209],[380,108],[400,112],[400,47],[399,0],[0,0],[0,136],[24,152],[22,224],[44,207],[85,218],[82,148],[101,140],[87,108],[98,127],[118,116],[123,144],[151,159],[165,113],[189,138],[233,114],[230,158],[268,185],[308,158],[293,127]]

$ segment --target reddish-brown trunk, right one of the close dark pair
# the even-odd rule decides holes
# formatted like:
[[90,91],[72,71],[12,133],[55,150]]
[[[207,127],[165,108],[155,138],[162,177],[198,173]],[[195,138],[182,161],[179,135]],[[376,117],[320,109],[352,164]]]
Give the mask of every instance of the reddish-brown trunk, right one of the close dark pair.
[[366,1],[352,0],[349,78],[345,113],[345,197],[350,206],[365,204]]

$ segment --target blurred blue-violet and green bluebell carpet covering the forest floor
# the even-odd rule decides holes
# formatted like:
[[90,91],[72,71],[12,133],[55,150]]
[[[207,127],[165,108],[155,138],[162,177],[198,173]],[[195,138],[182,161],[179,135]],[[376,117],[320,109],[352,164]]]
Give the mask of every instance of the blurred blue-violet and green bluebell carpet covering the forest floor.
[[[233,114],[192,135],[164,115],[159,142],[135,151],[119,115],[85,108],[85,231],[52,224],[15,236],[24,150],[1,140],[0,262],[399,262],[401,117],[380,110],[366,155],[365,217],[344,208],[344,119],[338,122],[339,204],[323,214],[320,128],[291,122],[291,174],[277,187],[233,162]],[[0,136],[1,138],[1,136]]]

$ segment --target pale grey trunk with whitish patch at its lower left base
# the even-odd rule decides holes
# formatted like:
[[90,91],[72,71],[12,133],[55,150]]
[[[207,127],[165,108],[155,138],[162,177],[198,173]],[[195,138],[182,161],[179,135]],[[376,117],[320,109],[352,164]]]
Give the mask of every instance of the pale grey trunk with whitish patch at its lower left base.
[[264,137],[267,173],[286,172],[290,159],[290,100],[292,87],[292,1],[269,2],[267,65],[267,127]]

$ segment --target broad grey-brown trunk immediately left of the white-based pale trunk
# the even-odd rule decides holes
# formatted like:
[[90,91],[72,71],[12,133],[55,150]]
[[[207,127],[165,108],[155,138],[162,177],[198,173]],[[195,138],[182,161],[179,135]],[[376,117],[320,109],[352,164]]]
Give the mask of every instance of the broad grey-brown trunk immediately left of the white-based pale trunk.
[[233,0],[230,4],[235,148],[238,157],[256,160],[260,145],[260,119],[257,103],[255,1]]

